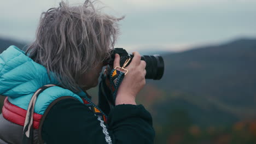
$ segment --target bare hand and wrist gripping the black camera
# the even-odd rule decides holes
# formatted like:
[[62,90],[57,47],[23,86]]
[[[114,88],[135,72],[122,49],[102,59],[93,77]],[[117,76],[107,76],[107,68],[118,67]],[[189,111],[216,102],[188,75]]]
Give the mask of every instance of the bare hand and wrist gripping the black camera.
[[[136,95],[146,84],[146,62],[141,61],[141,55],[139,55],[138,52],[133,52],[132,54],[132,61],[128,67],[125,68],[129,70],[129,72],[125,75],[124,80],[118,88],[115,105],[136,105]],[[120,56],[118,54],[115,54],[114,68],[115,67],[120,67]],[[123,72],[125,73],[126,71],[124,70]]]

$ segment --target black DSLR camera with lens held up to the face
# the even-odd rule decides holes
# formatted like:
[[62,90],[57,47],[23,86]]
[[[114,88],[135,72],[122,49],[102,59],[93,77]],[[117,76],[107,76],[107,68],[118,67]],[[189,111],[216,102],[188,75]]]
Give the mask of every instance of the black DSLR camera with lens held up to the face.
[[[133,58],[133,55],[129,55],[125,49],[115,48],[114,50],[112,50],[111,57],[108,59],[108,64],[112,68],[113,68],[113,63],[115,59],[115,53],[118,53],[120,56],[121,67],[123,67],[126,59]],[[146,79],[160,80],[162,78],[162,75],[164,74],[165,66],[164,66],[164,59],[162,59],[161,56],[159,55],[141,56],[141,60],[147,63],[146,65],[147,74],[145,76]],[[130,62],[127,65],[129,65]]]

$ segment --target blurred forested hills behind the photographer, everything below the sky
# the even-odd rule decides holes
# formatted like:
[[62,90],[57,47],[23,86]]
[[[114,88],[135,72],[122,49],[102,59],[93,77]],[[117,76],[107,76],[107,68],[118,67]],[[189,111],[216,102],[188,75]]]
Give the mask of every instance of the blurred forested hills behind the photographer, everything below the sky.
[[[24,46],[0,39],[0,52],[9,45]],[[256,143],[256,39],[163,57],[164,76],[137,96],[152,113],[155,143]],[[97,88],[89,93],[97,103]]]

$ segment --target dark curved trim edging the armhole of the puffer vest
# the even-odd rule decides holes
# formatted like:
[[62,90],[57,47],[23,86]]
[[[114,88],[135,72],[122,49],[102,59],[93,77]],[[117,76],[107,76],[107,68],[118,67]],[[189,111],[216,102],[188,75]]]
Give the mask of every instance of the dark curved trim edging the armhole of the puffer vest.
[[[44,124],[45,117],[47,116],[47,114],[51,110],[51,107],[53,107],[56,103],[58,103],[59,101],[61,101],[63,99],[75,99],[75,98],[71,97],[71,96],[60,97],[60,98],[55,99],[53,102],[51,102],[51,104],[47,107],[47,109],[44,112],[43,117],[40,120],[39,129],[38,129],[38,141],[39,141],[40,144],[44,143],[44,140],[42,138],[42,127],[43,127],[43,124]],[[75,100],[77,100],[77,99],[75,99]]]

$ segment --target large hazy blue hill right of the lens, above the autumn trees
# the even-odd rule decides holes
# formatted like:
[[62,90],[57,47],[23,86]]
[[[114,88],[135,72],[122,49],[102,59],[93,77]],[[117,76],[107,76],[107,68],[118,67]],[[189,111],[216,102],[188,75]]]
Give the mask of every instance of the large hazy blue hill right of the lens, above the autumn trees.
[[[187,111],[198,125],[256,117],[256,39],[171,53],[164,61],[162,80],[149,80],[155,90],[145,90],[159,93],[148,106],[157,122],[175,110]],[[141,95],[140,101],[147,99]]]

